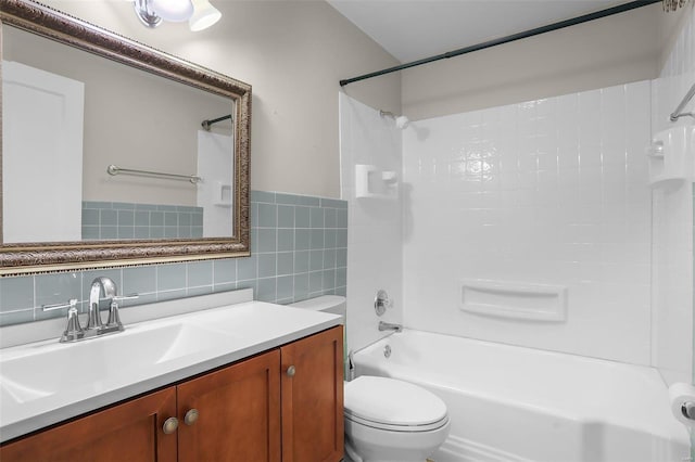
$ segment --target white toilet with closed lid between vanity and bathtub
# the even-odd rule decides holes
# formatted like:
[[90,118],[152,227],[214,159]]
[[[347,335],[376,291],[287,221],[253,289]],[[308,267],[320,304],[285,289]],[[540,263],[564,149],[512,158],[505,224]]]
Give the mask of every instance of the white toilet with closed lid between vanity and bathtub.
[[[290,305],[345,316],[345,297]],[[446,439],[446,405],[415,384],[371,375],[344,383],[345,453],[353,462],[425,462]],[[346,459],[348,460],[348,459]]]

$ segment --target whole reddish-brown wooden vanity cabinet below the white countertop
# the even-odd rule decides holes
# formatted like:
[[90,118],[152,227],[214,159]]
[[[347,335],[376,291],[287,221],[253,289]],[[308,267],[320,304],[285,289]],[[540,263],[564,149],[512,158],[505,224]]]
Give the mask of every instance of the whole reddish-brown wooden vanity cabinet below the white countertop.
[[338,462],[342,342],[329,329],[7,444],[0,460]]

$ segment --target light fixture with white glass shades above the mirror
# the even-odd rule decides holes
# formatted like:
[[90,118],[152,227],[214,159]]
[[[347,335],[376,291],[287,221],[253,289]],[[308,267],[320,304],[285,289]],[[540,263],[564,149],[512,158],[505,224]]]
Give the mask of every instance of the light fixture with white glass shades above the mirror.
[[134,0],[135,12],[142,24],[157,27],[162,21],[188,21],[192,31],[205,29],[222,17],[207,0]]

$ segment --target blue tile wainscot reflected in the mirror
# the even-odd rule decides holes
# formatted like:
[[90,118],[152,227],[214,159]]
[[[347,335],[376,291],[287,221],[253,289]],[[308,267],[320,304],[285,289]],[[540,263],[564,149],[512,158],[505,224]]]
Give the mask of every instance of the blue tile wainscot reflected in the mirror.
[[83,241],[202,236],[203,207],[83,202]]

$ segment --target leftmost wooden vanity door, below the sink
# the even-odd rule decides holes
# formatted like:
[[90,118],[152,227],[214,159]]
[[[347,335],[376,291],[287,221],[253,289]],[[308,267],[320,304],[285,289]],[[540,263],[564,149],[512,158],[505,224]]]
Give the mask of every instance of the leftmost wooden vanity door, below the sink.
[[176,388],[96,412],[0,447],[2,462],[176,462]]

